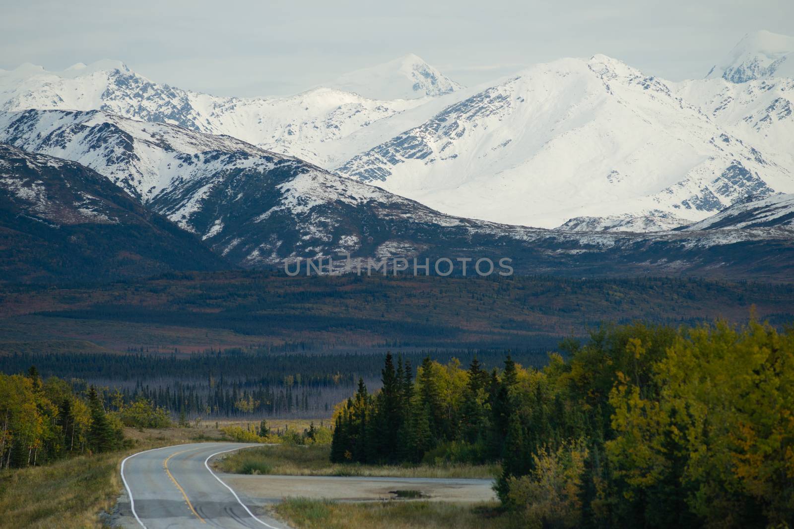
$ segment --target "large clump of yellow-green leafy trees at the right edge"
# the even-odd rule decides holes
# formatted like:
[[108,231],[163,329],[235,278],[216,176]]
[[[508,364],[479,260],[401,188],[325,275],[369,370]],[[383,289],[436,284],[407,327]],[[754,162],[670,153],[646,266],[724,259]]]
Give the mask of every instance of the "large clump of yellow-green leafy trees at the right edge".
[[[636,344],[635,346],[636,347]],[[653,365],[657,395],[621,374],[606,443],[626,499],[685,491],[709,527],[794,516],[794,333],[704,325]]]

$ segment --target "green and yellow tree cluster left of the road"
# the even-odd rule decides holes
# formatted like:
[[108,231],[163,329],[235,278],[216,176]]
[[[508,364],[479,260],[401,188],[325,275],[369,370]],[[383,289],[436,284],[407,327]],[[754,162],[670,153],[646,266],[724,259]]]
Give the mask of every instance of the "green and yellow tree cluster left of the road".
[[63,379],[42,380],[35,367],[27,374],[0,374],[0,468],[44,465],[75,454],[128,447],[123,426],[165,427],[168,413],[148,401],[129,405],[93,385],[75,392]]

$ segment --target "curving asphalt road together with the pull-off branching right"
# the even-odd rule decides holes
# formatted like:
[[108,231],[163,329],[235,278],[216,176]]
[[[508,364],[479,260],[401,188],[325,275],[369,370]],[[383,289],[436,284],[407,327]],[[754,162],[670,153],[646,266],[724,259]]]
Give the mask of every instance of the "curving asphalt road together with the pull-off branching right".
[[494,500],[490,479],[424,477],[248,476],[215,473],[210,459],[256,447],[245,443],[191,443],[146,450],[121,462],[126,494],[114,527],[225,527],[289,529],[264,514],[286,496],[338,501],[393,499],[392,491],[418,490],[426,500],[472,503]]

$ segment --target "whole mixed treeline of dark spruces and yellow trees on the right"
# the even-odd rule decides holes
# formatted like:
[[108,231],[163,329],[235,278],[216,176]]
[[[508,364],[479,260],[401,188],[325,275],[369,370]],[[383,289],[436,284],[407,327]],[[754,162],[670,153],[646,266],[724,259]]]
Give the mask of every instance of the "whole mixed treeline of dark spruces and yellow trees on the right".
[[333,462],[501,462],[527,527],[792,527],[794,330],[609,326],[542,370],[387,355]]

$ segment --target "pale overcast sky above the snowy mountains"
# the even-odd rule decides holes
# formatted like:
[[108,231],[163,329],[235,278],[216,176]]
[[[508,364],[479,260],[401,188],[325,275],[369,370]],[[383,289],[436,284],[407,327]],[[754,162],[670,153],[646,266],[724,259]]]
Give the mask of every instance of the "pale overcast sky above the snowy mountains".
[[0,13],[0,68],[119,59],[239,96],[292,94],[408,52],[468,86],[594,53],[678,80],[706,75],[750,31],[794,35],[792,0],[0,0]]

